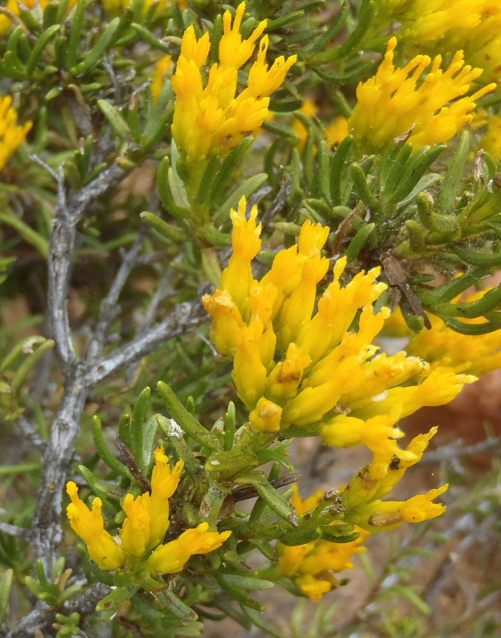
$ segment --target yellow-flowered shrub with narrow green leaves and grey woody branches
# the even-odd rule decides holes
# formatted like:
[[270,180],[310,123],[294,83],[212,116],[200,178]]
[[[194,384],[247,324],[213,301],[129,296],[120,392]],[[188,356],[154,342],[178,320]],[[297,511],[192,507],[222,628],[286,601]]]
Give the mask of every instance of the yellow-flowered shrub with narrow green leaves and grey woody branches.
[[[252,591],[446,511],[402,440],[500,367],[498,4],[3,3],[4,638],[280,636]],[[363,466],[303,500],[303,439]]]

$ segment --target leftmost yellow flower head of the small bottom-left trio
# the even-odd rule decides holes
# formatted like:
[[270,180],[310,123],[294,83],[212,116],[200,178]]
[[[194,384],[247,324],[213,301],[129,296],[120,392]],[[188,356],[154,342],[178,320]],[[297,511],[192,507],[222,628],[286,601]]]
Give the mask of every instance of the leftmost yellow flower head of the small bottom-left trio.
[[66,486],[71,503],[66,509],[69,523],[75,533],[82,538],[87,545],[92,560],[98,563],[101,569],[119,569],[125,562],[126,556],[122,547],[119,547],[112,535],[105,530],[105,521],[101,514],[103,503],[100,498],[94,498],[92,511],[78,498],[75,483],[69,481]]

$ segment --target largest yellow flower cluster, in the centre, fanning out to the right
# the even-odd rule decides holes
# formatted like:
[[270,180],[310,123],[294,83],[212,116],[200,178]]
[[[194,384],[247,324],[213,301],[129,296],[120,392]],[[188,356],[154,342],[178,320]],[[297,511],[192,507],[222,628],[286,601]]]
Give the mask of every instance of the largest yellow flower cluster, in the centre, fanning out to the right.
[[[251,262],[261,248],[261,226],[256,207],[249,219],[245,207],[242,198],[238,211],[231,211],[233,253],[221,287],[203,303],[212,316],[212,341],[233,359],[250,427],[259,432],[299,426],[329,445],[366,445],[377,458],[405,456],[396,443],[403,436],[398,419],[448,403],[476,378],[430,369],[403,352],[376,354],[372,340],[389,316],[388,308],[374,314],[374,302],[386,289],[376,281],[379,268],[359,272],[342,286],[345,258],[328,272],[321,249],[329,229],[320,224],[306,221],[298,243],[279,251],[256,281]],[[317,303],[324,278],[331,283]]]

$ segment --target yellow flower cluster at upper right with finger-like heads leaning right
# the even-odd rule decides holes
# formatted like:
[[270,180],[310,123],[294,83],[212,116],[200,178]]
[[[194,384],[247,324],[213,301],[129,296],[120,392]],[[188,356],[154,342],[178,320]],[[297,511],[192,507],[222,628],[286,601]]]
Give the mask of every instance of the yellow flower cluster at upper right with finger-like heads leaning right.
[[442,58],[435,57],[418,85],[431,59],[416,56],[404,68],[395,68],[395,47],[396,38],[391,38],[375,76],[358,85],[358,102],[348,121],[352,135],[368,152],[381,151],[407,131],[412,131],[409,142],[414,149],[447,142],[471,121],[475,100],[495,89],[489,84],[465,96],[482,69],[463,66],[462,51],[456,52],[446,71],[440,69]]

